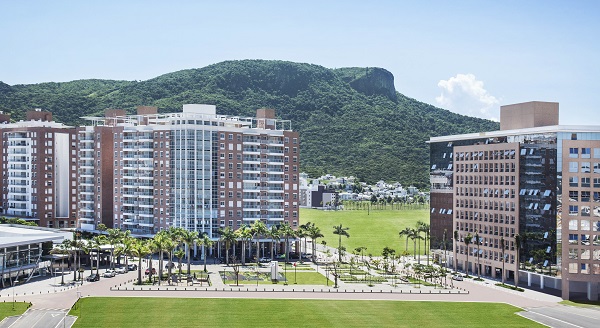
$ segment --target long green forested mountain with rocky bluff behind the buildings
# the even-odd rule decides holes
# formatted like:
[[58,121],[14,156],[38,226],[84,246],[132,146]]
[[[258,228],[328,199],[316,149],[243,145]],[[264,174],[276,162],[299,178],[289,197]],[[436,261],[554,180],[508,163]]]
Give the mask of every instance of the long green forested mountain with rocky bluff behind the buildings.
[[[1,78],[1,77],[0,77]],[[226,61],[147,81],[78,80],[10,86],[0,82],[0,109],[14,120],[42,108],[80,125],[84,115],[136,106],[181,111],[214,104],[219,114],[254,116],[274,108],[301,133],[301,169],[363,181],[428,186],[430,136],[491,131],[498,123],[451,113],[408,98],[381,68],[328,69],[284,61]]]

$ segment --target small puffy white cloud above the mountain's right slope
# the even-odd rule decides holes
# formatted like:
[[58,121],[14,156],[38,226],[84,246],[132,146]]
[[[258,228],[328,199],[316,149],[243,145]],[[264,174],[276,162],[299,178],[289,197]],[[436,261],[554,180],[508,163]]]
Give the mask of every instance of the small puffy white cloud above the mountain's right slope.
[[435,97],[438,104],[455,113],[498,121],[499,100],[489,94],[473,74],[456,74],[441,80],[442,94]]

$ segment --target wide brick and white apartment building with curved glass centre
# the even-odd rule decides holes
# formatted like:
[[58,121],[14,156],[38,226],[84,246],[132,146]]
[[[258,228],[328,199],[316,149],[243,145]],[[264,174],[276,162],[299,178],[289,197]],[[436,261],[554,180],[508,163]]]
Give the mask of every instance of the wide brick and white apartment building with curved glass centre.
[[271,109],[218,115],[212,105],[159,114],[109,110],[78,129],[80,227],[150,236],[264,221],[297,226],[300,144]]

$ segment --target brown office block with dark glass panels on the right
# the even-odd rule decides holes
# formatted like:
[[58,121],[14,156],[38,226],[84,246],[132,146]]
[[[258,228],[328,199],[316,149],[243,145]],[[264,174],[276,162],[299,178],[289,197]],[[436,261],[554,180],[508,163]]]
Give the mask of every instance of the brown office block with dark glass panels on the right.
[[500,126],[430,139],[432,245],[457,234],[458,269],[597,300],[600,126],[548,102],[502,106]]

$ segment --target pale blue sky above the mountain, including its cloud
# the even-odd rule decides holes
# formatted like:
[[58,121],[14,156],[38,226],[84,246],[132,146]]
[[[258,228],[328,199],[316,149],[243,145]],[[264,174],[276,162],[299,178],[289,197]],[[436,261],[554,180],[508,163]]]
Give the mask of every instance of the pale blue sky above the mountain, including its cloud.
[[561,124],[600,124],[600,1],[0,0],[0,31],[10,85],[280,59],[383,67],[406,96],[470,116],[542,100]]

